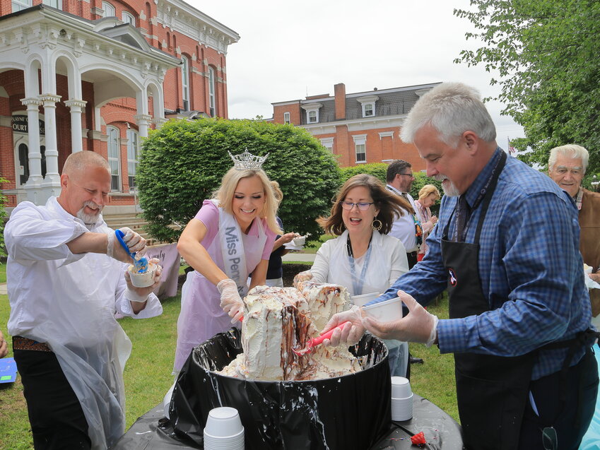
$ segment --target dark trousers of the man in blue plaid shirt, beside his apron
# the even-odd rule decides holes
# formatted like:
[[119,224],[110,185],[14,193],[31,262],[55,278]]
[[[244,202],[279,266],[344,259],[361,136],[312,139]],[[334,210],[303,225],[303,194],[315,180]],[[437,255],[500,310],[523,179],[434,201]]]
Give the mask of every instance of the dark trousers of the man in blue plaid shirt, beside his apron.
[[[598,365],[592,350],[588,349],[582,360],[570,367],[566,386],[561,383],[560,372],[556,372],[531,381],[530,389],[540,416],[527,402],[519,449],[543,449],[543,427],[553,425],[558,437],[557,450],[577,450],[596,408]],[[567,401],[561,410],[562,389],[567,389]]]

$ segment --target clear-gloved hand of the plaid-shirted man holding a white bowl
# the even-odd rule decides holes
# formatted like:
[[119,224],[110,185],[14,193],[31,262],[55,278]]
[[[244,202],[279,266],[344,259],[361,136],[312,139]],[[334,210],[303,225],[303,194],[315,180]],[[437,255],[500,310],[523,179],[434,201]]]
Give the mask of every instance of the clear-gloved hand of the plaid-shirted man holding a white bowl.
[[407,316],[391,322],[380,322],[365,316],[363,317],[365,328],[378,338],[425,343],[428,347],[433,345],[437,338],[437,316],[427,312],[403,290],[398,291],[398,297],[408,307]]

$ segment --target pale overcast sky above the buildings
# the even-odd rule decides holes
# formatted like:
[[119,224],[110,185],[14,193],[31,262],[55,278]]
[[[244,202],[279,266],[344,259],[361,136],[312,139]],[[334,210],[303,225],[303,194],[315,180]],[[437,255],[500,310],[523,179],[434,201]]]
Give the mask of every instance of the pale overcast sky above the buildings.
[[[227,54],[230,119],[273,115],[272,102],[306,95],[462,81],[495,95],[482,66],[454,64],[472,30],[452,14],[469,0],[185,0],[240,35]],[[489,102],[498,144],[524,136]]]

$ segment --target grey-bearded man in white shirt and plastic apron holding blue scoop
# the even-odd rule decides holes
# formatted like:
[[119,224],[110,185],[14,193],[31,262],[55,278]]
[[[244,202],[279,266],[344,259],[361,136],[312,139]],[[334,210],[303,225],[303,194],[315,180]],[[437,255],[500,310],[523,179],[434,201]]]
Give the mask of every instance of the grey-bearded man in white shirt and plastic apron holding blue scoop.
[[[19,203],[4,231],[8,332],[36,450],[107,449],[119,439],[131,341],[114,314],[141,319],[163,312],[151,293],[160,270],[154,285],[131,285],[131,258],[100,213],[109,191],[107,161],[73,153],[60,196],[45,206]],[[129,251],[143,250],[145,239],[122,231]]]

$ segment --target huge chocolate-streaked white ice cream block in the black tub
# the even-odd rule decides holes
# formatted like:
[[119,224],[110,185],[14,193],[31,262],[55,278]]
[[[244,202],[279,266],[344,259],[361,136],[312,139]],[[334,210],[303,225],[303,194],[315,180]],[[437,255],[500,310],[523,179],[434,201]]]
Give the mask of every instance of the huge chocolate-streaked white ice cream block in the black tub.
[[220,374],[257,380],[306,380],[341,377],[360,370],[343,345],[319,345],[298,356],[336,312],[348,307],[348,293],[337,285],[300,283],[296,288],[258,286],[245,297],[242,348]]

